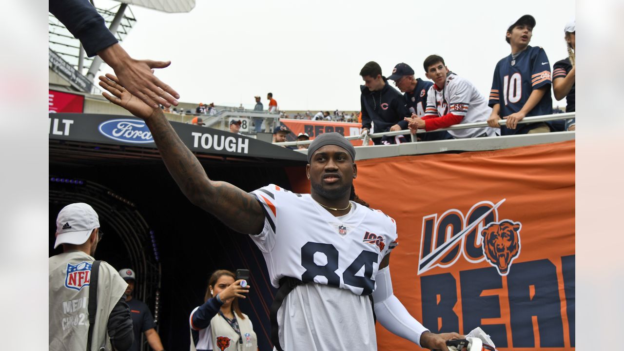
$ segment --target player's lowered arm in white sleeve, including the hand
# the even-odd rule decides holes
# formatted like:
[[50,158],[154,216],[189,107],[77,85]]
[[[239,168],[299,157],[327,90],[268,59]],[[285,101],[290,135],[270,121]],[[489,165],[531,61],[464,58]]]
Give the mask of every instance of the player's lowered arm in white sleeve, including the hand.
[[407,312],[401,301],[392,292],[389,262],[390,254],[381,261],[379,271],[375,276],[377,286],[373,292],[373,301],[379,323],[393,334],[427,349],[447,350],[446,340],[461,339],[462,335],[457,333],[434,334],[429,332]]

